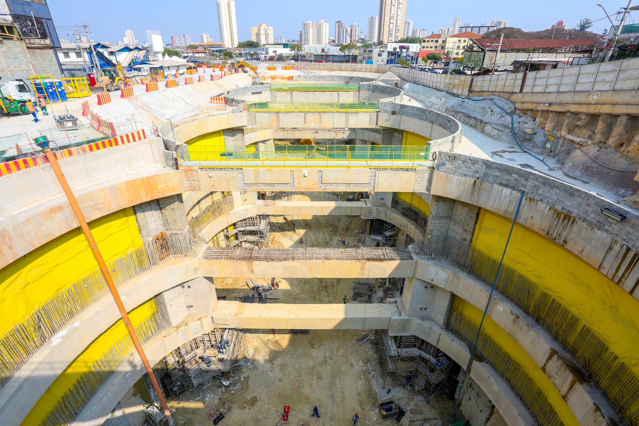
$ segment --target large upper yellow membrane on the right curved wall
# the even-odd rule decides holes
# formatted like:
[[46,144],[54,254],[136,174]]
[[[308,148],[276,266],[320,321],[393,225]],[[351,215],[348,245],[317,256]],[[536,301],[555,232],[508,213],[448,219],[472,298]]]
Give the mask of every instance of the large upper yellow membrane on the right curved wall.
[[[500,259],[511,219],[482,209],[473,247]],[[610,351],[639,374],[639,301],[587,262],[517,224],[504,257],[504,265],[530,278],[585,324]],[[631,407],[631,411],[636,409]]]

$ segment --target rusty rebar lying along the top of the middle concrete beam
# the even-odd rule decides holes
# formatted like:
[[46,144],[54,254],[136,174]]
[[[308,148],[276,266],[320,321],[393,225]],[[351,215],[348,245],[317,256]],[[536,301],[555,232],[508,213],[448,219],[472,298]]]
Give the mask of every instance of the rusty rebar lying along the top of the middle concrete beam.
[[236,262],[302,262],[302,261],[410,261],[413,255],[405,247],[361,248],[255,248],[208,247],[202,256],[205,260]]

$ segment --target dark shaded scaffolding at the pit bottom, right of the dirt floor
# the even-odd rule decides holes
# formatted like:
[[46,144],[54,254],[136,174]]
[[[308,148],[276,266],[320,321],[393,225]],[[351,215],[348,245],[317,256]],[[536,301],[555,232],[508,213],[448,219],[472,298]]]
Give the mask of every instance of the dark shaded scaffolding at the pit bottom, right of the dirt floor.
[[387,330],[376,330],[374,341],[384,376],[407,377],[407,384],[431,398],[454,390],[449,381],[454,362],[438,347],[413,335],[391,336]]

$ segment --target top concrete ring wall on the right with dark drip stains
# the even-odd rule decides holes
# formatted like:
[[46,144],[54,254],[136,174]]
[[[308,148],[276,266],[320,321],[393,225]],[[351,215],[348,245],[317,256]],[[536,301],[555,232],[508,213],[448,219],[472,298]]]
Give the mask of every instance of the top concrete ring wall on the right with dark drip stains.
[[[639,300],[639,215],[540,172],[458,153],[440,152],[431,194],[468,202],[513,218],[566,248]],[[626,215],[617,222],[601,214]]]

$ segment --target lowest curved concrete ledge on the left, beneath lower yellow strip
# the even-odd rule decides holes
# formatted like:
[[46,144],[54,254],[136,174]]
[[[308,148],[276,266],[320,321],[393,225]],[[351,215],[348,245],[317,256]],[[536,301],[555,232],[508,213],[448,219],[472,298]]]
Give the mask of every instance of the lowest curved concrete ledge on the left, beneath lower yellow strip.
[[[162,335],[151,339],[144,344],[146,357],[151,365],[158,363],[164,356],[173,351],[176,347],[184,344],[190,339],[213,330],[213,323],[210,317],[203,317],[192,323],[180,327],[171,328],[164,331]],[[73,425],[99,426],[104,423],[107,416],[118,404],[125,393],[137,382],[140,377],[146,374],[144,365],[137,353],[132,353],[123,361],[114,374],[100,387],[98,392],[89,400],[88,404]]]

